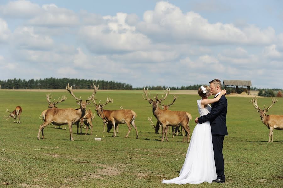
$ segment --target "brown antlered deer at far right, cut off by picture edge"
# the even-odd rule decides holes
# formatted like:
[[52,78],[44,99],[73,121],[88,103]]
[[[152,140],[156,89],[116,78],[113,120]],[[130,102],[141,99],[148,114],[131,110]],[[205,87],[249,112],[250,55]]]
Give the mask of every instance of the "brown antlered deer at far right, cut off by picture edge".
[[272,104],[270,106],[268,105],[268,107],[265,108],[264,105],[263,110],[258,107],[257,99],[258,97],[254,97],[250,102],[252,102],[254,108],[257,109],[257,112],[259,112],[262,123],[270,129],[268,143],[270,142],[270,137],[271,142],[273,142],[273,129],[283,130],[283,115],[266,115],[268,109],[270,109],[273,104],[277,102],[277,99],[275,97],[271,98]]

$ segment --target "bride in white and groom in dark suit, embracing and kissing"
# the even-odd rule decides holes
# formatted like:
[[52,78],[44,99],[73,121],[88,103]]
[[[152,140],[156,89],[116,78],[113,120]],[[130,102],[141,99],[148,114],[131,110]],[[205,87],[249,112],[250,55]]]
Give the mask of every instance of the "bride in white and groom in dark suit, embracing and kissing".
[[[222,154],[224,136],[228,135],[226,127],[227,99],[226,90],[221,81],[212,80],[210,86],[201,86],[197,100],[200,117],[196,118],[196,127],[186,154],[179,177],[163,180],[162,183],[199,184],[203,182],[224,183],[224,160]],[[213,99],[208,99],[211,94]],[[209,104],[212,104],[211,106]]]

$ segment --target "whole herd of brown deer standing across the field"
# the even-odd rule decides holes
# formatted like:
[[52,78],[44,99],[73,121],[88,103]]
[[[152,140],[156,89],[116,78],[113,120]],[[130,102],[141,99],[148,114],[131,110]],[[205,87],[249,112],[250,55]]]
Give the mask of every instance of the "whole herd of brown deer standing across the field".
[[[96,102],[97,99],[95,99],[95,94],[98,88],[99,86],[96,87],[93,84],[92,95],[88,97],[86,100],[82,100],[81,98],[78,98],[75,96],[72,90],[72,86],[70,87],[69,84],[67,85],[66,89],[73,96],[73,98],[76,99],[76,103],[80,105],[80,108],[78,109],[57,108],[55,105],[65,101],[67,97],[63,95],[61,99],[58,98],[58,101],[55,102],[55,99],[54,99],[51,102],[50,99],[52,97],[50,96],[50,94],[47,94],[46,100],[48,102],[48,109],[44,110],[40,115],[40,118],[44,122],[39,127],[37,139],[38,140],[41,139],[40,133],[42,133],[42,139],[44,138],[43,130],[49,124],[55,125],[55,128],[56,126],[62,125],[62,129],[65,129],[65,130],[66,130],[66,125],[68,125],[69,131],[70,131],[70,140],[72,141],[74,140],[73,135],[72,135],[73,133],[72,125],[73,124],[77,125],[77,134],[79,134],[79,123],[80,123],[80,134],[82,134],[82,125],[84,124],[86,128],[85,135],[87,135],[89,128],[91,129],[90,134],[92,135],[92,129],[93,129],[92,120],[94,119],[95,114],[93,114],[91,110],[86,110],[86,106],[91,103],[94,104],[94,107],[95,107],[94,110],[96,111],[97,115],[103,121],[103,132],[105,132],[105,126],[107,127],[107,132],[110,132],[110,130],[113,128],[112,137],[116,137],[116,130],[118,133],[118,125],[127,124],[129,130],[125,137],[127,138],[129,136],[130,131],[132,129],[131,126],[133,126],[136,131],[136,138],[138,138],[139,137],[138,131],[137,131],[137,127],[135,124],[135,119],[137,117],[136,113],[133,110],[123,109],[123,107],[120,107],[121,108],[120,110],[105,110],[104,107],[108,103],[113,103],[113,99],[107,98],[105,103],[102,102],[102,104],[100,104],[101,101],[97,103]],[[187,142],[189,142],[190,141],[189,122],[192,120],[192,116],[190,113],[185,112],[185,111],[168,110],[171,105],[175,104],[175,101],[177,99],[176,96],[173,96],[174,100],[168,105],[165,105],[164,103],[162,103],[162,101],[164,101],[168,97],[169,92],[170,92],[170,89],[166,89],[166,91],[164,90],[164,93],[165,93],[164,97],[162,96],[160,99],[158,99],[158,94],[157,94],[156,96],[154,96],[154,99],[151,99],[148,89],[147,90],[145,90],[145,88],[143,89],[142,97],[143,99],[147,100],[149,104],[152,105],[152,113],[154,117],[157,119],[157,122],[156,124],[154,124],[152,121],[152,117],[148,117],[148,120],[150,121],[150,125],[152,125],[153,128],[155,129],[155,133],[158,133],[159,131],[159,134],[160,134],[162,131],[162,139],[161,139],[162,142],[164,141],[164,134],[165,134],[165,140],[168,141],[167,134],[168,134],[169,127],[172,127],[172,137],[173,138],[174,138],[174,134],[176,133],[178,134],[179,127],[181,127],[182,130],[185,131],[184,134],[182,133],[182,135],[184,136],[183,142],[185,142],[186,140]],[[273,142],[273,130],[274,129],[283,130],[283,115],[267,115],[266,113],[278,100],[272,97],[271,105],[269,105],[267,108],[265,108],[265,105],[264,105],[264,108],[260,109],[257,104],[257,99],[258,97],[254,97],[252,98],[250,102],[252,102],[252,105],[257,110],[257,112],[259,112],[262,123],[266,125],[268,129],[270,129],[268,143]],[[159,105],[163,109],[161,109]],[[10,117],[12,117],[15,119],[14,122],[21,123],[20,117],[22,113],[22,108],[20,106],[17,106],[15,110],[12,112],[10,112],[8,109],[6,110],[6,112],[8,112],[9,115],[4,116],[3,119],[8,120]],[[173,127],[175,127],[175,131]],[[271,141],[270,141],[270,138],[271,138]]]

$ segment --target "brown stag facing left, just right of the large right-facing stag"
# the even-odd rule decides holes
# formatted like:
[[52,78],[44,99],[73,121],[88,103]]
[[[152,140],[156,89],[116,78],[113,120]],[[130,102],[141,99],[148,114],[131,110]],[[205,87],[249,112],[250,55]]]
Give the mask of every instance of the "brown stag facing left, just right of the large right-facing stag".
[[131,125],[136,130],[136,139],[139,138],[138,131],[135,124],[135,119],[137,117],[136,113],[133,110],[128,109],[121,109],[121,110],[104,110],[104,106],[108,103],[113,103],[113,99],[107,98],[105,104],[97,104],[95,102],[95,99],[92,99],[93,104],[95,105],[95,111],[97,112],[97,115],[103,119],[104,126],[107,124],[107,132],[110,132],[112,129],[112,126],[114,127],[114,133],[112,137],[116,137],[116,127],[118,124],[127,124],[129,131],[126,134],[126,138],[129,136],[129,133],[131,131]]

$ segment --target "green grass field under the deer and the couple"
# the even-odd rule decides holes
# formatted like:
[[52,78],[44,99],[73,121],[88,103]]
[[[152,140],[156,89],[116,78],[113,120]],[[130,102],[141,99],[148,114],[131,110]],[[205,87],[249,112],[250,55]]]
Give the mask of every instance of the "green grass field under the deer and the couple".
[[[82,99],[91,95],[91,91],[74,93]],[[93,135],[73,134],[74,142],[69,140],[68,128],[55,129],[53,125],[44,129],[44,140],[37,140],[42,123],[38,117],[48,106],[45,94],[0,90],[2,117],[7,115],[6,108],[23,108],[21,124],[0,119],[0,187],[283,187],[283,131],[274,130],[274,142],[267,143],[269,129],[260,121],[250,98],[227,96],[229,136],[223,147],[226,182],[175,185],[161,181],[178,176],[188,143],[181,142],[183,136],[172,138],[172,134],[169,142],[160,142],[161,135],[155,134],[147,121],[153,114],[151,105],[142,99],[142,91],[98,90],[96,95],[102,101],[107,96],[113,98],[114,103],[105,109],[123,106],[136,112],[139,139],[134,129],[125,138],[125,124],[119,125],[116,138],[111,137],[113,130],[103,133],[103,123],[96,115]],[[68,99],[57,107],[78,107],[67,91],[54,92],[53,97],[63,94]],[[165,103],[172,99],[169,95]],[[198,95],[179,95],[170,110],[187,111],[195,118],[199,116],[197,99]],[[270,98],[258,99],[260,108],[270,102]],[[93,104],[88,107],[94,112]],[[268,114],[283,115],[282,98]],[[190,122],[191,134],[194,127]],[[95,135],[102,141],[94,141]]]

